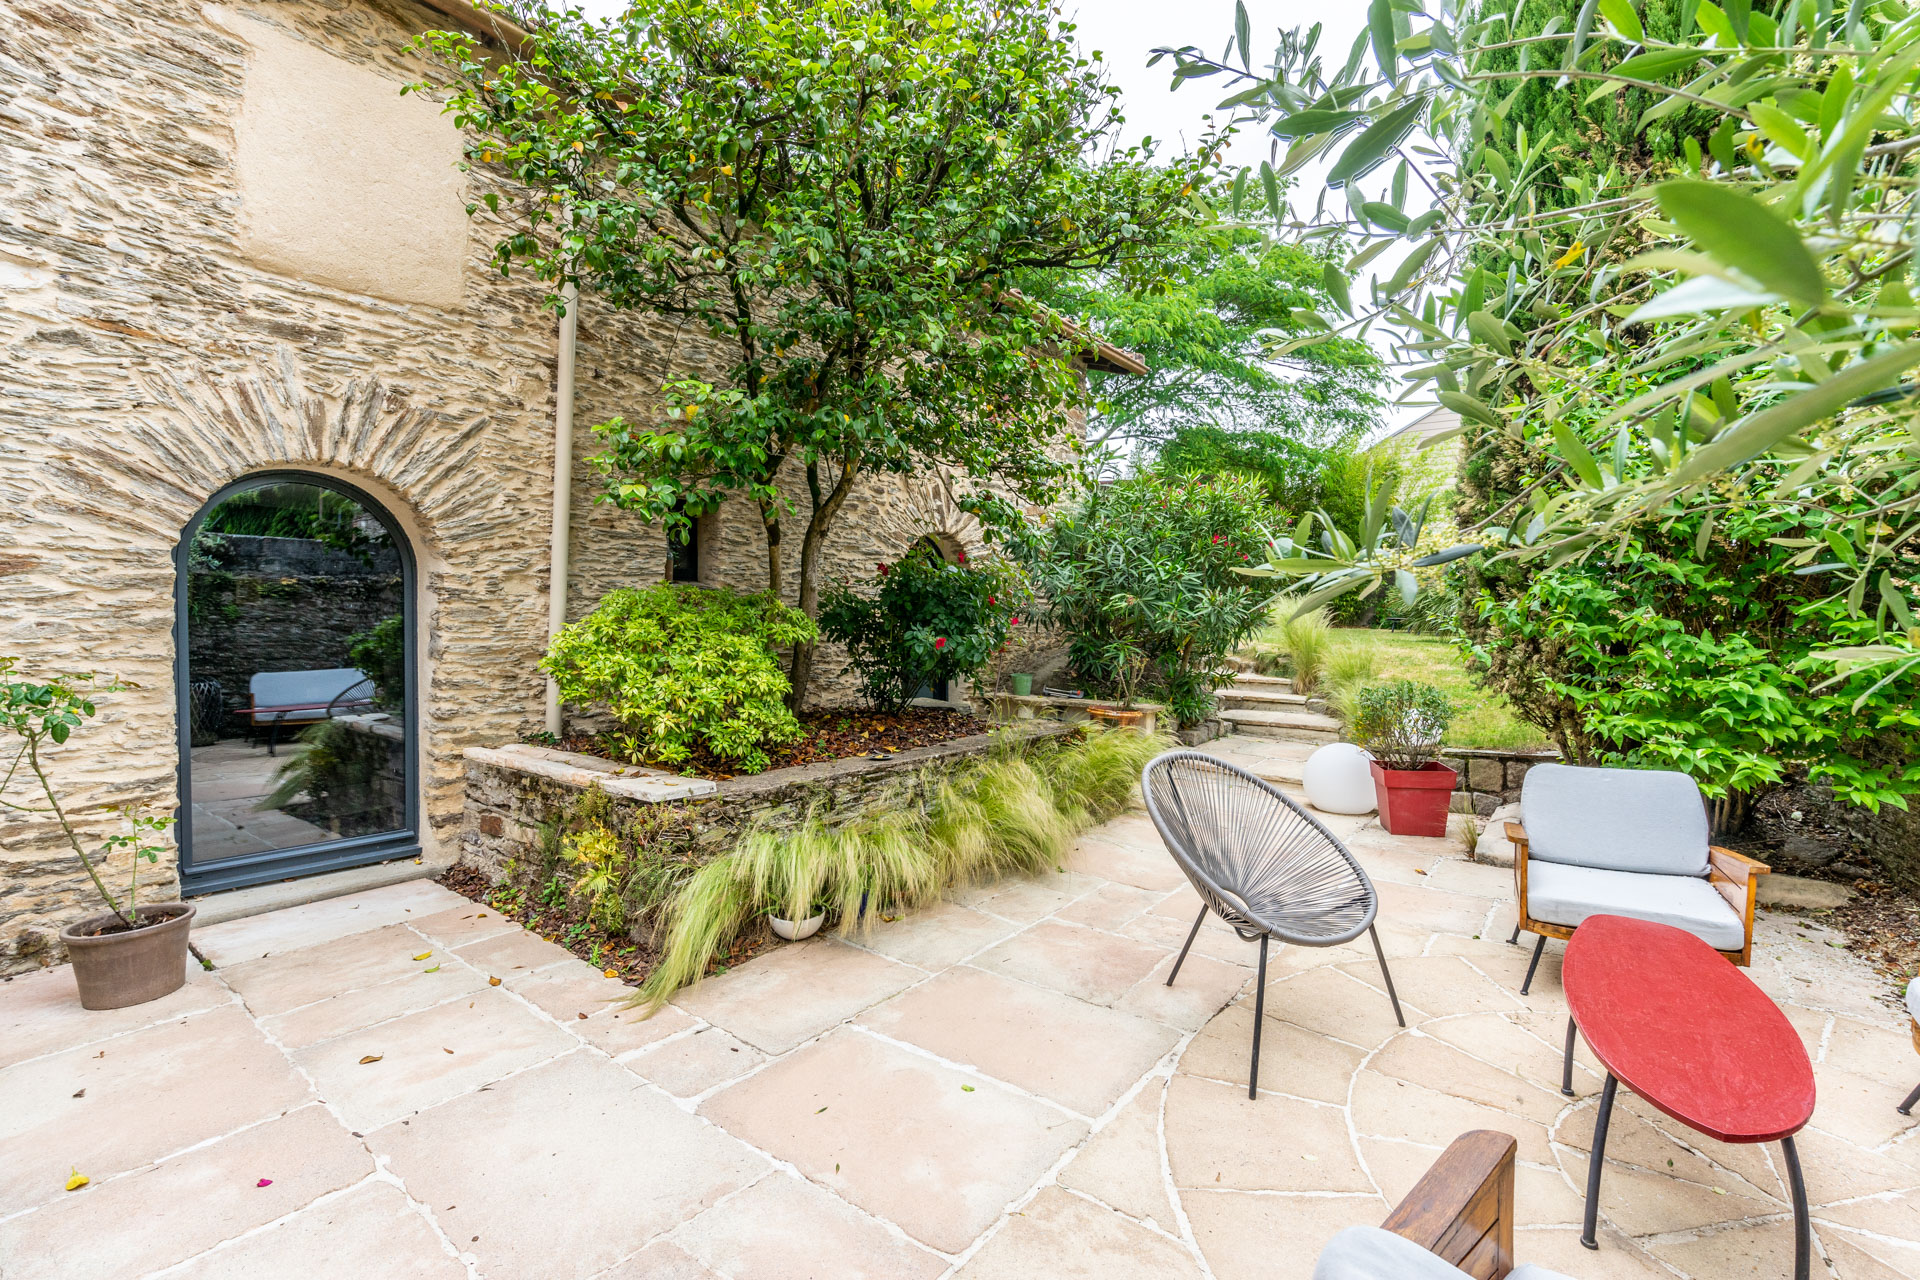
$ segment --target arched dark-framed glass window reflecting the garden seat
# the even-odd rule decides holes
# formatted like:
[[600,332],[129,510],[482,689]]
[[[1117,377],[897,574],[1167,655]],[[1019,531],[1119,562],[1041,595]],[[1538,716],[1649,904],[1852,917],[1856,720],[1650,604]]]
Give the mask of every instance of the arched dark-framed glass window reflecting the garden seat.
[[261,472],[175,553],[180,883],[417,858],[415,566],[361,489]]

